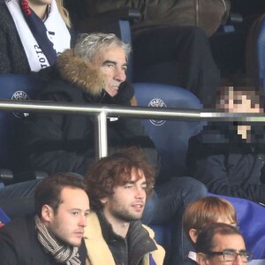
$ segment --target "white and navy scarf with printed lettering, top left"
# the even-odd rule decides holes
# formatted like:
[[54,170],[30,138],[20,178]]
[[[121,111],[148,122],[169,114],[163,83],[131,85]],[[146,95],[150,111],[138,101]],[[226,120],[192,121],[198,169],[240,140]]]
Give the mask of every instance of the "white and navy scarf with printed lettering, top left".
[[34,13],[27,0],[5,0],[5,4],[16,25],[31,71],[39,72],[55,64],[57,55],[70,48],[71,35],[56,0],[49,4],[45,21]]

